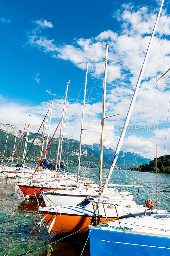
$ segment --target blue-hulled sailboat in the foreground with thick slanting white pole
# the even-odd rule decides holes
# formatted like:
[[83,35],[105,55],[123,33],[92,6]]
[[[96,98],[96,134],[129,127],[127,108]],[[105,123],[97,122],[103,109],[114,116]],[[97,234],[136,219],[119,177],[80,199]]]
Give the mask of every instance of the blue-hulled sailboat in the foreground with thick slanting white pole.
[[[106,181],[102,188],[101,194],[99,196],[98,202],[96,204],[101,204],[104,196],[105,188],[107,187],[110,175],[116,164],[117,156],[122,145],[124,134],[131,117],[131,112],[137,97],[142,75],[146,66],[146,61],[151,49],[153,37],[158,24],[159,16],[162,10],[164,0],[162,0],[158,17],[153,28],[152,36],[149,42],[149,46],[145,55],[145,60],[139,74],[138,82],[136,85],[135,92],[133,94],[131,105],[126,116],[124,123],[124,130],[121,133],[113,161],[110,166],[109,173],[107,175]],[[158,80],[157,80],[158,81]],[[144,255],[164,255],[168,256],[170,252],[170,212],[169,211],[159,211],[157,201],[157,209],[155,214],[147,216],[145,206],[145,216],[143,218],[130,218],[130,219],[119,219],[117,214],[117,221],[108,221],[104,225],[93,226],[94,221],[91,221],[89,225],[89,247],[90,256],[97,255],[107,255],[111,256],[138,256]],[[116,205],[115,205],[116,207]],[[117,207],[116,207],[117,208]],[[151,208],[152,209],[152,208]],[[92,219],[95,219],[97,214],[97,209],[94,209],[94,215]]]

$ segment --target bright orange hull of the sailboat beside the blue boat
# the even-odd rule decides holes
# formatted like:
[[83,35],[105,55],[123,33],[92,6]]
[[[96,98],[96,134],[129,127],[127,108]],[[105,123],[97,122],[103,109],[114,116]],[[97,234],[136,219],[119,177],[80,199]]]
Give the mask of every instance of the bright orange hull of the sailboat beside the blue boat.
[[[81,230],[79,233],[85,233],[88,231],[90,225],[89,215],[78,215],[78,214],[66,214],[66,213],[47,213],[41,211],[45,217],[48,226],[50,226],[54,217],[56,216],[53,228],[51,229],[54,234],[67,234]],[[116,220],[117,218],[108,218],[108,220]],[[106,222],[106,218],[102,217],[101,222]],[[100,223],[98,223],[100,224]]]

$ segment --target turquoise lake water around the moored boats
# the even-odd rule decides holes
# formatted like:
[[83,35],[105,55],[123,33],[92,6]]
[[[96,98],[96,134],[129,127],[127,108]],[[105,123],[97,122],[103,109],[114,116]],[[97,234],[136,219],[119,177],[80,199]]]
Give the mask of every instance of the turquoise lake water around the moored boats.
[[[76,167],[68,167],[68,171],[74,173],[76,172]],[[103,170],[103,180],[107,175],[108,170]],[[150,186],[156,188],[170,197],[170,175],[169,174],[157,174],[148,172],[132,172],[127,171],[131,175],[137,177],[139,180],[146,182]],[[139,176],[140,174],[140,176]],[[96,168],[81,168],[81,176],[87,176],[91,181],[98,180],[98,169]],[[129,175],[129,174],[128,174]],[[93,178],[92,178],[93,176]],[[130,176],[130,175],[129,175]],[[131,176],[130,176],[131,177]],[[135,178],[131,177],[135,180]],[[135,180],[139,185],[141,182]],[[160,186],[161,180],[161,186]],[[134,182],[127,178],[123,173],[114,170],[110,183],[114,184],[131,184]],[[137,184],[136,184],[137,185]],[[154,189],[149,188],[143,184],[144,188],[148,190],[151,194],[140,188],[140,199],[151,198],[156,206],[157,196],[159,200],[167,202],[170,205],[170,198],[154,191]],[[125,188],[127,189],[127,188]],[[137,198],[138,188],[128,188]],[[15,192],[15,193],[14,193]],[[12,196],[13,194],[13,196]],[[143,202],[143,201],[141,201]],[[165,208],[165,204],[161,203],[161,208]],[[170,208],[166,207],[170,210]],[[31,214],[30,214],[31,213]],[[26,214],[30,214],[26,216]],[[37,202],[36,200],[29,200],[26,202],[22,196],[22,192],[18,190],[18,186],[15,185],[14,180],[4,178],[3,174],[0,174],[0,256],[5,255],[10,252],[12,248],[16,246],[12,252],[8,255],[16,255],[19,253],[24,253],[30,250],[34,250],[46,244],[52,243],[62,237],[63,235],[54,235],[53,233],[46,234],[43,226],[41,228],[38,225],[40,220],[39,214],[37,212]],[[9,221],[9,222],[6,222]],[[5,223],[3,223],[5,222]],[[31,233],[30,233],[31,232]],[[28,234],[30,235],[26,237]],[[26,238],[25,238],[26,237]],[[25,238],[25,239],[24,239]],[[39,255],[39,256],[64,256],[64,255],[75,255],[79,256],[81,254],[82,248],[85,244],[87,234],[79,235],[75,234],[73,236],[67,237],[60,242],[52,245],[53,252],[49,246],[40,249],[29,255]],[[23,240],[24,239],[24,240]],[[23,241],[22,241],[23,240]],[[22,242],[21,242],[22,241]],[[21,243],[20,243],[21,242]],[[19,244],[17,246],[17,244]],[[83,252],[84,256],[89,256],[88,244]]]

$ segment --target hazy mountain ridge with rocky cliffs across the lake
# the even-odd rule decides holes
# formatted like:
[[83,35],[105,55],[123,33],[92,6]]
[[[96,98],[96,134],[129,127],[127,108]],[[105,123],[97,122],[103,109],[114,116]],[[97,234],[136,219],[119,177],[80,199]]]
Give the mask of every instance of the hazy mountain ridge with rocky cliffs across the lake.
[[[9,132],[9,137],[7,141],[7,147],[8,147],[9,144],[11,143],[11,140],[16,135],[16,131],[18,131],[17,138],[19,142],[20,138],[23,135],[23,132],[20,131],[15,125],[0,123],[0,156],[1,157],[3,156],[3,153],[4,153],[4,146],[7,138],[7,132]],[[29,140],[28,140],[28,148],[30,147],[35,135],[36,133],[30,132]],[[41,136],[42,134],[40,133],[37,135],[37,138],[34,141],[34,145],[28,154],[28,158],[27,158],[28,162],[37,163],[39,159]],[[23,145],[21,147],[21,156],[23,154],[25,138],[26,138],[26,133],[24,136]],[[49,161],[52,163],[54,163],[56,159],[58,140],[59,140],[58,138],[53,139],[50,145],[50,150],[47,154]],[[13,152],[13,147],[14,147],[14,140],[11,143],[11,146],[9,148],[7,159],[11,156]],[[18,146],[15,152],[14,159],[17,159],[19,148],[20,148],[20,145]],[[63,161],[64,163],[68,162],[69,165],[77,166],[78,153],[79,153],[79,141],[74,139],[69,140],[68,138],[64,138],[62,162]],[[113,160],[114,153],[115,151],[112,148],[107,149],[105,146],[103,147],[103,167],[110,166],[110,163]],[[135,160],[135,157],[136,157],[136,160]],[[95,143],[93,145],[87,145],[87,144],[82,145],[81,166],[98,167],[99,158],[100,158],[100,144]],[[139,166],[140,164],[149,164],[150,159],[147,159],[136,153],[134,156],[134,153],[120,151],[119,157],[117,159],[117,165],[121,168],[124,168],[124,162],[125,162],[125,168],[130,169],[130,167],[136,166],[136,161],[137,161],[137,165]]]

